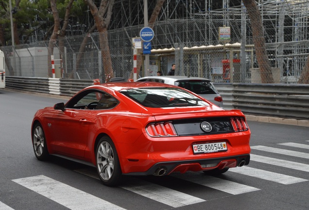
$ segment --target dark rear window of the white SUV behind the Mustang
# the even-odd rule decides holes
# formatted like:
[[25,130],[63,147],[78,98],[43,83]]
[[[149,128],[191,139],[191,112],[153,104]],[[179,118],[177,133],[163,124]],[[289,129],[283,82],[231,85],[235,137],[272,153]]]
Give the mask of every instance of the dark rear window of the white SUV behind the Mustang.
[[205,81],[177,81],[176,86],[189,89],[196,94],[218,94],[211,82]]

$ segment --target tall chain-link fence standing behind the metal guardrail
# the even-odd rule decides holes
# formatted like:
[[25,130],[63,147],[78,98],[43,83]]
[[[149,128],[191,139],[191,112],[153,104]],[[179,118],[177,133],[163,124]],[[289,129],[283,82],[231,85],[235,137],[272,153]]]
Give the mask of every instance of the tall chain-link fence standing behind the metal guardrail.
[[[264,28],[266,64],[270,65],[274,82],[297,83],[309,55],[309,2],[260,0],[258,8]],[[149,69],[145,70],[144,62],[141,62],[138,76],[156,75],[158,70],[166,75],[172,64],[176,64],[175,75],[204,77],[222,83],[261,83],[265,73],[262,67],[266,64],[258,62],[260,46],[255,45],[254,25],[251,27],[247,12],[240,5],[200,11],[186,19],[157,22],[153,27]],[[133,70],[132,38],[139,36],[142,27],[131,26],[108,32],[115,77],[130,77]],[[98,33],[66,37],[62,40],[64,50],[60,50],[59,41],[55,41],[53,52],[56,77],[99,78],[104,82],[107,75]],[[14,49],[1,47],[1,50],[6,55],[7,75],[49,76],[48,42],[18,45]],[[142,50],[138,53],[138,58],[144,60]]]

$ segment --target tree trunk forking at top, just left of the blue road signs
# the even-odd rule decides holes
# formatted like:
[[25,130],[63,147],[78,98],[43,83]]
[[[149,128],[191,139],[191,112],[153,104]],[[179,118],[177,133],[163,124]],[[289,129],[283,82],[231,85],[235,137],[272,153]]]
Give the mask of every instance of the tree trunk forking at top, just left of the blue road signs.
[[[100,33],[99,41],[100,41],[100,48],[101,48],[101,53],[102,53],[102,63],[103,63],[105,77],[113,78],[114,72],[113,72],[112,59],[111,59],[109,44],[108,44],[107,27],[109,25],[110,18],[112,16],[112,9],[115,4],[115,0],[102,0],[99,10],[94,4],[93,0],[86,0],[86,2],[96,22],[98,32]],[[102,80],[103,78],[104,77],[102,75]],[[105,81],[108,82],[108,80],[105,80]]]

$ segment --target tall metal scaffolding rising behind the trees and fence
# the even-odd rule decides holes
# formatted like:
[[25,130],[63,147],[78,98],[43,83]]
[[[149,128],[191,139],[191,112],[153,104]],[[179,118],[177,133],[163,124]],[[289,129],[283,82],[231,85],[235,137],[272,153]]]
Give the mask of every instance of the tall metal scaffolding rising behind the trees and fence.
[[[137,37],[144,26],[143,3],[144,0],[115,1],[108,29],[115,76],[127,77],[132,70],[132,38]],[[148,0],[148,17],[151,17],[155,4],[156,0]],[[280,70],[281,83],[296,83],[309,55],[309,1],[257,0],[257,6],[262,17],[271,67]],[[91,71],[96,77],[100,74],[96,71],[101,65],[99,38],[96,33],[87,33],[94,24],[90,11],[80,18],[84,19],[70,20],[65,41],[67,56],[72,57],[73,66],[74,56],[79,53],[81,43],[87,35],[89,41],[84,60],[80,62],[79,69],[74,71],[86,76]],[[229,43],[222,43],[218,38],[219,27],[223,26],[230,27]],[[251,22],[241,0],[165,0],[153,29],[155,36],[152,48],[176,49],[168,53],[173,54],[175,60],[178,59],[179,67],[189,69],[192,76],[203,75],[211,79],[213,70],[221,63],[219,59],[226,58],[231,61],[240,60],[240,75],[237,80],[240,82],[247,82],[251,77],[249,69],[257,68],[255,53],[252,53],[251,47],[249,51],[246,48],[254,43]],[[234,46],[235,43],[240,43],[237,44],[240,47],[224,47],[226,44]],[[198,48],[219,44],[223,47],[207,50]],[[48,44],[36,42],[25,48],[29,46],[46,47]],[[169,57],[161,54],[157,56],[160,56],[160,67],[167,69]],[[221,67],[222,65],[221,63]]]

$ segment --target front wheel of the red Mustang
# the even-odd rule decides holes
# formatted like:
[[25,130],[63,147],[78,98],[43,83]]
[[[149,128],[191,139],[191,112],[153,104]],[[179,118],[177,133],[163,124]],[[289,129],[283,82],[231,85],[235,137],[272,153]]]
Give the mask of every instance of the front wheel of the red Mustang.
[[34,124],[32,132],[32,144],[34,155],[38,160],[46,160],[49,157],[45,134],[40,123]]

